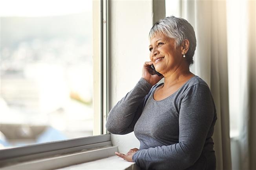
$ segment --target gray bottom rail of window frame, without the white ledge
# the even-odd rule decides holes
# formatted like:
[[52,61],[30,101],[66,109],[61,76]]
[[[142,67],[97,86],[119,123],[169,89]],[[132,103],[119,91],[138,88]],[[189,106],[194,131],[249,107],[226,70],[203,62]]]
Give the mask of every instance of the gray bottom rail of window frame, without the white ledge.
[[1,150],[0,167],[5,169],[56,169],[113,156],[111,135],[81,137]]

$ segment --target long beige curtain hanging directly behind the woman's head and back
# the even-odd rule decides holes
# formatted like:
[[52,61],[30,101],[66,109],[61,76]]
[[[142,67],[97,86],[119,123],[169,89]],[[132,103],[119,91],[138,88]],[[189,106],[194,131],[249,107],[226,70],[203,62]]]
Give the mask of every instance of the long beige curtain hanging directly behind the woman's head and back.
[[227,26],[225,1],[180,1],[180,15],[193,25],[197,47],[191,71],[209,85],[218,120],[214,129],[216,169],[231,170]]

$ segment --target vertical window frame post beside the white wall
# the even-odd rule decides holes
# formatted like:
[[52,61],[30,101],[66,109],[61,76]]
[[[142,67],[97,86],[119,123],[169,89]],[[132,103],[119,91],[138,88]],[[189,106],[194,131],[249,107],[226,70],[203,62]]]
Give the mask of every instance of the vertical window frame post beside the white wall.
[[108,0],[93,1],[93,110],[100,113],[94,114],[93,135],[108,134],[104,126],[110,111],[108,8]]

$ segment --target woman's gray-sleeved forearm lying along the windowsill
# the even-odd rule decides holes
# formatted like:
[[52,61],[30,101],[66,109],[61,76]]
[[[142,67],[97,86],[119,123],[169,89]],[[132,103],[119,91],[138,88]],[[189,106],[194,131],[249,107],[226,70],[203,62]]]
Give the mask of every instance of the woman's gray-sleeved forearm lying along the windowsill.
[[192,166],[201,154],[201,150],[187,150],[183,143],[137,151],[132,159],[142,168],[161,170],[184,170]]

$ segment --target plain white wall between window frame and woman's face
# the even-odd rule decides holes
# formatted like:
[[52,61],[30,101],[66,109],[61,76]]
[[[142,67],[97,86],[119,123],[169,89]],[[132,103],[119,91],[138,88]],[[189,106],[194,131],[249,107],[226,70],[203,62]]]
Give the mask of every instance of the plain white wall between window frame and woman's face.
[[[143,63],[149,60],[148,33],[152,27],[152,0],[110,1],[110,108],[141,78]],[[133,132],[112,135],[119,152],[139,148]]]

